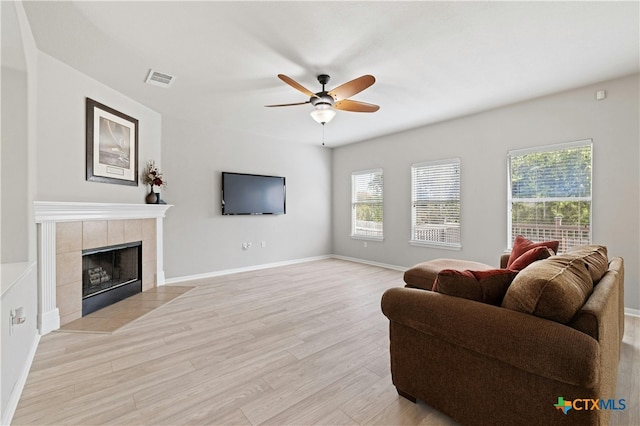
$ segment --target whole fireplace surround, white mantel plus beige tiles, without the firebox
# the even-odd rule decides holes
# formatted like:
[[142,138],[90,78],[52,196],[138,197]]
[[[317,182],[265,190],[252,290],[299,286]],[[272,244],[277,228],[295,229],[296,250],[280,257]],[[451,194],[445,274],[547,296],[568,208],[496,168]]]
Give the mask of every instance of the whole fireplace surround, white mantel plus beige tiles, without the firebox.
[[142,241],[142,289],[163,285],[162,219],[169,207],[35,201],[40,334],[82,316],[82,250]]

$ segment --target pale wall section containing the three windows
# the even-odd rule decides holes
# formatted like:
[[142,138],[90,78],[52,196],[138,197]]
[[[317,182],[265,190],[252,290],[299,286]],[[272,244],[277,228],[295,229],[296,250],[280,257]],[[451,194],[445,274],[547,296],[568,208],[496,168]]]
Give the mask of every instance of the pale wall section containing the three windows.
[[[596,90],[607,99],[595,100]],[[639,76],[336,148],[333,154],[333,248],[342,256],[409,267],[433,258],[498,265],[507,247],[507,168],[511,149],[593,139],[593,242],[625,259],[625,305],[640,309]],[[413,247],[412,163],[459,157],[460,251]],[[351,172],[384,170],[383,242],[351,239]]]

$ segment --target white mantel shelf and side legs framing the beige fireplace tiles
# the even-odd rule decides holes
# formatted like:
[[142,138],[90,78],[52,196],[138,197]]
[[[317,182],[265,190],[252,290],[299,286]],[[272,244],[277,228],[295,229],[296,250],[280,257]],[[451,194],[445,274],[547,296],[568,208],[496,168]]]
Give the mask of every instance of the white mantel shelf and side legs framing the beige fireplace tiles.
[[56,223],[90,220],[156,219],[157,285],[163,285],[162,219],[170,204],[118,204],[34,201],[38,224],[38,329],[47,334],[60,328],[56,304]]

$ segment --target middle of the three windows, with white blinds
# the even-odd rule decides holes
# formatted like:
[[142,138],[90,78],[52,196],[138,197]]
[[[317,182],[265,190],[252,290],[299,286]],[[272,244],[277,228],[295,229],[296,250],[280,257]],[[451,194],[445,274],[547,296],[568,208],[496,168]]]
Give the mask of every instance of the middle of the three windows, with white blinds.
[[411,166],[411,244],[460,248],[460,159]]

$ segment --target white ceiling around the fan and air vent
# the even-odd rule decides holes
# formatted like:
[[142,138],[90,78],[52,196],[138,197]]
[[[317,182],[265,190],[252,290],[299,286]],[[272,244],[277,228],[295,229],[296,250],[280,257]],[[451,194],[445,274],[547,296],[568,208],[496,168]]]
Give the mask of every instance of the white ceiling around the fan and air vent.
[[[328,146],[357,142],[639,71],[630,2],[25,1],[45,53],[165,117],[262,140],[318,144],[308,98],[376,83],[338,111]],[[176,76],[144,83],[150,68]],[[242,137],[242,136],[239,136]]]

